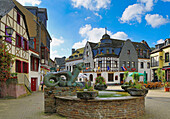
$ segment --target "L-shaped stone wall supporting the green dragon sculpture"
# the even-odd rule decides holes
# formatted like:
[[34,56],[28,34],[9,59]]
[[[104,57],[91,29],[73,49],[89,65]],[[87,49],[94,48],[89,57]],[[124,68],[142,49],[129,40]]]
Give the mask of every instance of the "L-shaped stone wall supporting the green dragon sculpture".
[[77,87],[47,87],[44,89],[45,113],[56,112],[55,96],[75,96]]

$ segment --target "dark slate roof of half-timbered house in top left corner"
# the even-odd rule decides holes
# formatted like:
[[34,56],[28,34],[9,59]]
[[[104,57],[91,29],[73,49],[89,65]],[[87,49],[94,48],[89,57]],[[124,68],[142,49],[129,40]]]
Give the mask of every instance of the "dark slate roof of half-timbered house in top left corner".
[[12,0],[0,0],[0,18],[5,16],[15,7]]

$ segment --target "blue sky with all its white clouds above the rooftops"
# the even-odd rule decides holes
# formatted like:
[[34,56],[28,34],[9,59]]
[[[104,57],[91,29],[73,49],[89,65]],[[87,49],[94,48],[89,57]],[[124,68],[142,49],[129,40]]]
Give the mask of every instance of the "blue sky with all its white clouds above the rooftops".
[[170,38],[170,0],[17,0],[47,8],[52,37],[50,57],[68,57],[87,41],[111,38],[147,41],[150,47]]

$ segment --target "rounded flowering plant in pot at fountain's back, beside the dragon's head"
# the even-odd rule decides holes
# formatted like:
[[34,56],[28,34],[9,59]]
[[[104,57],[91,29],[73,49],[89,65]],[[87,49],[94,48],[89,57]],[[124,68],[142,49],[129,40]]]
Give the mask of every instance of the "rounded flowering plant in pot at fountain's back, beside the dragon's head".
[[106,81],[102,76],[98,76],[95,79],[95,85],[94,85],[94,89],[96,90],[106,90],[107,85],[106,85]]

